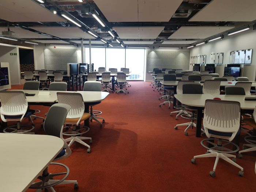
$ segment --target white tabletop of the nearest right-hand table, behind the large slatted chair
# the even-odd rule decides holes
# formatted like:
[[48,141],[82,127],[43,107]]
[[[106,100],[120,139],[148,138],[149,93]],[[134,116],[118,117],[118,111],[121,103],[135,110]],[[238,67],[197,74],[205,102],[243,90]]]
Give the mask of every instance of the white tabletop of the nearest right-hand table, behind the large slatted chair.
[[212,94],[175,94],[174,97],[184,105],[195,107],[204,107],[206,99],[221,98],[226,101],[240,102],[241,109],[254,109],[256,101],[245,101],[245,97],[254,97],[255,95],[212,95]]

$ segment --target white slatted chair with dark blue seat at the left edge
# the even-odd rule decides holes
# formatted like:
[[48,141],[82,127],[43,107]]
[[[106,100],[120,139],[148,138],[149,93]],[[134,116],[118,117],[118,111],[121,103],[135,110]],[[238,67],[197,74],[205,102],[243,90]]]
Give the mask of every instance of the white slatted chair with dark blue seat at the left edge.
[[[35,128],[31,118],[31,115],[35,113],[35,110],[29,109],[25,93],[23,91],[0,91],[0,100],[0,116],[2,121],[17,122],[16,125],[5,128],[3,132],[34,134],[30,131]],[[20,125],[25,118],[29,118],[32,123],[32,128],[30,125]]]

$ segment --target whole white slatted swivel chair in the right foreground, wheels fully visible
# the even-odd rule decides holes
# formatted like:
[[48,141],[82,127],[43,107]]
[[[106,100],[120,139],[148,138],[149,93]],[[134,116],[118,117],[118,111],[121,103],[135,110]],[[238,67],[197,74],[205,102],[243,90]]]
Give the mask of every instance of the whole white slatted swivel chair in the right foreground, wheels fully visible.
[[[239,176],[244,175],[244,169],[236,163],[236,155],[231,154],[239,150],[239,147],[231,141],[239,131],[240,115],[239,102],[210,99],[205,102],[203,126],[208,139],[202,140],[201,144],[207,148],[207,153],[194,156],[191,162],[195,164],[196,158],[216,157],[213,170],[210,172],[211,177],[215,177],[215,170],[220,158],[238,167],[240,169]],[[212,147],[208,147],[207,144]],[[232,146],[228,148],[228,144]],[[233,159],[231,160],[229,157]]]

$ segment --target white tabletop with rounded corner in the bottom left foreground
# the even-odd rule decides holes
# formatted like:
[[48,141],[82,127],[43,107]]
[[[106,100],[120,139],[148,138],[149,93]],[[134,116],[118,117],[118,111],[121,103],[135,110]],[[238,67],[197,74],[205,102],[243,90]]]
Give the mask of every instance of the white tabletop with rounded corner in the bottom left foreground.
[[0,191],[26,191],[63,146],[54,136],[0,133]]

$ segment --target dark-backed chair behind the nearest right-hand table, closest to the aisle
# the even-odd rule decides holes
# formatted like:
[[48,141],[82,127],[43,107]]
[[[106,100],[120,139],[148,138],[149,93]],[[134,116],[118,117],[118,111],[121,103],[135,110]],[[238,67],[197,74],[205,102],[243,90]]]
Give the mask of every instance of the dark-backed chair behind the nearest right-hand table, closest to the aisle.
[[[202,90],[202,86],[200,83],[190,83],[190,84],[183,84],[182,86],[182,94],[203,94],[203,90]],[[186,119],[190,119],[191,122],[189,123],[182,123],[182,124],[178,124],[174,127],[174,129],[178,129],[179,126],[187,126],[187,128],[184,131],[184,135],[188,135],[188,129],[193,127],[196,127],[196,124],[194,123],[194,120],[196,120],[196,115],[195,115],[195,111],[197,110],[197,108],[193,107],[193,106],[188,106],[188,105],[184,105],[186,110],[190,110],[192,112],[192,114],[187,115],[187,114],[181,114],[181,117],[186,118]]]

